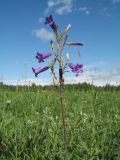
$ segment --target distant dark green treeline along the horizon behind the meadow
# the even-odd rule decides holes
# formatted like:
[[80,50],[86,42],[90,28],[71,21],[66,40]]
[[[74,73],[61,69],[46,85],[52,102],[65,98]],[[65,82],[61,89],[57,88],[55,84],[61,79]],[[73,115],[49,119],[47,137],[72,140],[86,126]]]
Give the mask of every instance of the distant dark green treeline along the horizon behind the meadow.
[[[80,91],[90,91],[90,90],[99,90],[99,91],[120,91],[120,85],[112,86],[107,84],[106,86],[95,86],[89,83],[78,83],[78,84],[65,84],[65,90],[80,90]],[[5,85],[0,82],[0,90],[8,91],[38,91],[38,90],[57,90],[57,87],[54,85],[50,86],[41,86],[35,85],[34,83],[31,86],[13,86]]]

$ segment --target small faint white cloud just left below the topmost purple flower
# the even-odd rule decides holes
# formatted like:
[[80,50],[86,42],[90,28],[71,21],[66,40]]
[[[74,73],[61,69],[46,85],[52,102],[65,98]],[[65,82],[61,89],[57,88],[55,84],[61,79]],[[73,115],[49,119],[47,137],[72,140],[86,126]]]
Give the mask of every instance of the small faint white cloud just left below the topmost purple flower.
[[51,39],[54,39],[54,34],[45,28],[41,29],[34,29],[32,33],[37,37],[40,38],[42,41],[47,42]]

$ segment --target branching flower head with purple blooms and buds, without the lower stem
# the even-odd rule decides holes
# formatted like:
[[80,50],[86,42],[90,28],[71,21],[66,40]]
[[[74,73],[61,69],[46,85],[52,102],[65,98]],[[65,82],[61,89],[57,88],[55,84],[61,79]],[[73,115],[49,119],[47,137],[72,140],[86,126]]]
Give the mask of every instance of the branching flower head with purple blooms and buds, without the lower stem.
[[36,54],[36,59],[38,60],[38,62],[44,62],[44,59],[50,57],[51,55],[54,56],[54,59],[49,63],[48,65],[44,66],[44,67],[40,67],[37,69],[32,68],[33,73],[35,74],[35,76],[37,77],[39,73],[44,72],[48,69],[51,69],[51,72],[53,74],[53,79],[54,81],[57,80],[57,77],[55,75],[54,72],[54,67],[55,67],[55,63],[58,62],[59,63],[59,71],[61,71],[60,74],[63,74],[65,72],[65,69],[67,67],[69,67],[71,69],[71,71],[73,73],[75,73],[76,76],[78,76],[81,72],[83,72],[83,65],[82,64],[73,64],[71,62],[69,62],[69,53],[66,53],[66,63],[63,63],[63,57],[62,57],[62,50],[64,48],[65,45],[68,46],[83,46],[82,43],[78,43],[78,42],[67,42],[67,32],[69,31],[69,29],[71,28],[71,24],[69,24],[61,33],[58,33],[58,26],[56,25],[56,23],[54,22],[53,16],[50,15],[49,17],[46,17],[45,19],[45,24],[49,24],[50,27],[52,28],[52,30],[55,33],[56,36],[56,41],[57,41],[57,49],[56,51],[54,51],[55,47],[54,47],[54,43],[51,40],[50,44],[51,44],[51,48],[52,48],[52,53],[50,52],[46,52],[46,53],[37,53]]

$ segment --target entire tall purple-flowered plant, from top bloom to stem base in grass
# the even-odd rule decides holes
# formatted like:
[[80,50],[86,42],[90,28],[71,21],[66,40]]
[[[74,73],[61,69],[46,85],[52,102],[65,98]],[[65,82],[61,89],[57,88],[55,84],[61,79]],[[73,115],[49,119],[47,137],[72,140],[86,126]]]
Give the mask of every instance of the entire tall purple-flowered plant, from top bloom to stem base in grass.
[[[79,63],[72,63],[69,59],[69,53],[66,53],[66,60],[63,59],[63,50],[65,46],[83,46],[82,43],[78,42],[69,42],[68,41],[68,31],[71,29],[71,24],[69,24],[65,29],[61,32],[58,32],[58,25],[56,25],[54,18],[52,15],[45,18],[45,24],[50,25],[52,28],[55,38],[56,38],[56,46],[54,45],[53,40],[50,41],[51,45],[51,52],[46,53],[37,53],[36,59],[39,63],[44,62],[46,58],[53,56],[52,61],[48,62],[47,66],[40,67],[37,69],[32,68],[33,73],[37,77],[38,74],[44,72],[48,69],[51,70],[53,83],[59,88],[59,95],[60,95],[60,110],[61,110],[61,117],[63,123],[63,132],[64,132],[64,144],[67,147],[67,131],[66,131],[66,122],[65,122],[65,114],[64,114],[64,96],[63,96],[63,85],[64,85],[64,73],[66,69],[70,68],[71,71],[76,75],[79,76],[80,73],[83,72],[83,65]],[[59,70],[58,70],[58,77],[55,73],[55,64],[58,63]]]

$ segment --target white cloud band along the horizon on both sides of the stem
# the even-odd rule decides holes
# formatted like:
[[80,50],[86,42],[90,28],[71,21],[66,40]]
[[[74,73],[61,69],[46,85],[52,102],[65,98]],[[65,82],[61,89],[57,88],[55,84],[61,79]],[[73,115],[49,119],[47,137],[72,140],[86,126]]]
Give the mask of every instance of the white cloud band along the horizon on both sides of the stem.
[[[110,84],[110,85],[120,85],[120,72],[117,74],[115,73],[116,71],[114,71],[114,73],[109,74],[106,72],[107,76],[105,76],[104,73],[99,73],[96,71],[85,71],[83,72],[79,77],[76,77],[75,75],[73,76],[65,76],[64,80],[65,80],[65,84],[78,84],[78,83],[90,83],[90,84],[94,84],[96,86],[105,86],[106,84]],[[117,71],[118,72],[118,71]],[[116,80],[114,79],[110,79],[111,77],[114,76],[118,76],[119,75],[119,79]],[[108,79],[109,78],[109,79]],[[39,79],[38,78],[34,78],[34,79],[26,79],[26,83],[25,80],[6,80],[3,81],[4,84],[8,84],[8,85],[32,85],[33,83],[36,85],[51,85],[53,84],[52,80],[50,78],[43,78],[43,79]]]

